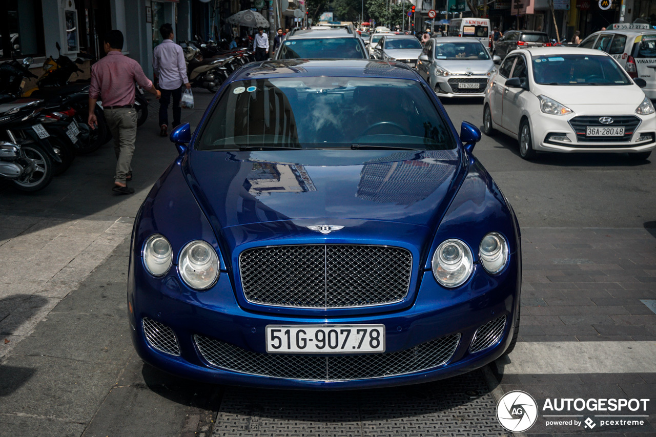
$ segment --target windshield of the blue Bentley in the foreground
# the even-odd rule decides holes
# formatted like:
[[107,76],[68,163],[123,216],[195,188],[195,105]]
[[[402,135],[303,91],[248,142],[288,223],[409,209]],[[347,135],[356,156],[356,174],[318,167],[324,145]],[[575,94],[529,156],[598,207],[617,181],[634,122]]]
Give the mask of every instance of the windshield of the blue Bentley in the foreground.
[[260,147],[443,150],[455,148],[455,141],[426,91],[414,80],[276,77],[237,81],[222,93],[196,148]]

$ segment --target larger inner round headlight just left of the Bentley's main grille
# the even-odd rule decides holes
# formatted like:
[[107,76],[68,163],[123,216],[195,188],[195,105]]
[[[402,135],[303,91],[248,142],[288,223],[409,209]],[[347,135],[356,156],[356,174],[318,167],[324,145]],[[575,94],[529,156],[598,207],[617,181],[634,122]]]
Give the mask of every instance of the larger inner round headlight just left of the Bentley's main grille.
[[205,290],[218,278],[218,257],[214,248],[202,240],[192,241],[182,249],[178,270],[190,287]]

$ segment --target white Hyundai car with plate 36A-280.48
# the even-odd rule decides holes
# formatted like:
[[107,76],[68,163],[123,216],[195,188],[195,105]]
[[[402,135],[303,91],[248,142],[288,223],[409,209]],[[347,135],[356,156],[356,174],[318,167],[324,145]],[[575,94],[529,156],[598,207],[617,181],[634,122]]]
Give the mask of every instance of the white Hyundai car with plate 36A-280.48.
[[656,147],[656,114],[645,85],[602,51],[512,51],[485,89],[483,132],[517,138],[524,159],[537,151],[647,159]]

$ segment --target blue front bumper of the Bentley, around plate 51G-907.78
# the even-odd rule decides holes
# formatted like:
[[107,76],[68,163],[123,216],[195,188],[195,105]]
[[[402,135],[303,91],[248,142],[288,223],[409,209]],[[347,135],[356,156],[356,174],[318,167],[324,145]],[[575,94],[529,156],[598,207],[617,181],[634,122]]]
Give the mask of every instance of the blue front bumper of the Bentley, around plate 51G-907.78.
[[[432,272],[422,272],[417,299],[408,308],[388,314],[333,317],[330,316],[329,310],[308,310],[308,314],[303,316],[247,311],[237,303],[227,272],[222,272],[218,283],[210,291],[197,293],[187,289],[184,283],[178,280],[175,266],[167,276],[153,278],[142,268],[140,257],[133,256],[128,281],[132,339],[138,354],[149,364],[175,375],[209,383],[348,389],[407,385],[443,379],[482,367],[501,356],[508,347],[519,304],[521,267],[518,257],[518,254],[512,254],[506,270],[494,277],[486,274],[480,264],[476,264],[472,278],[462,287],[453,290],[440,287],[432,277]],[[283,312],[284,310],[281,310],[281,313]],[[470,345],[477,329],[502,317],[505,317],[505,324],[499,337],[496,337],[489,347],[471,352]],[[155,320],[173,330],[179,356],[161,352],[146,340],[142,327],[144,318]],[[276,360],[270,360],[274,354],[266,354],[266,325],[367,323],[385,325],[386,351],[384,354],[366,356],[365,361],[372,369],[379,364],[379,357],[383,355],[389,354],[389,358],[396,354],[395,357],[407,359],[427,342],[453,335],[459,337],[444,364],[419,368],[417,371],[407,367],[410,371],[403,374],[390,375],[384,370],[381,374],[369,371],[367,377],[339,381],[316,377],[280,377],[279,375],[285,373],[278,367],[289,363],[298,365],[299,356],[286,355],[286,358],[276,357]],[[215,344],[227,344],[228,348],[234,351],[234,356],[230,359],[242,360],[242,365],[221,368],[211,364],[213,360],[208,359],[207,350],[201,352],[202,344],[199,348],[199,337],[211,339]],[[251,367],[244,367],[243,360],[260,361]],[[262,369],[262,363],[272,361],[277,367]],[[364,375],[357,372],[354,374]]]

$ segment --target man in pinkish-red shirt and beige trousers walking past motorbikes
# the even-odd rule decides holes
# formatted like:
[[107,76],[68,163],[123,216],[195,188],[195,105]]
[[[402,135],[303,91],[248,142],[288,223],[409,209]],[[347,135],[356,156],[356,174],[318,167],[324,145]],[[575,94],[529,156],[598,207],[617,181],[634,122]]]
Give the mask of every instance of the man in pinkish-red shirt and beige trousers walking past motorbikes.
[[98,119],[94,113],[98,97],[102,95],[107,125],[114,139],[116,172],[112,191],[120,194],[133,194],[134,188],[127,186],[132,180],[132,156],[136,140],[136,109],[134,108],[134,82],[144,90],[161,95],[148,80],[136,60],[124,56],[123,33],[110,30],[105,35],[104,50],[107,56],[91,66],[91,87],[89,88],[89,126],[95,129]]

